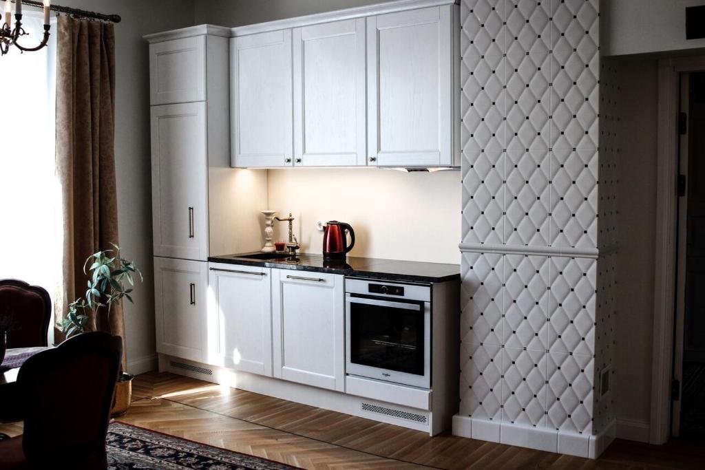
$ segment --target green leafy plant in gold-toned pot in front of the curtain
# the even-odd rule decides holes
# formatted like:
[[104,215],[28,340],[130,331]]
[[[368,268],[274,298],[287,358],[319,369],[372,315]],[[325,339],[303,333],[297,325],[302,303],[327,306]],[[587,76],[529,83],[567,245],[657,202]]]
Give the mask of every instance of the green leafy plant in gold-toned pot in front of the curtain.
[[[98,314],[105,312],[108,333],[110,331],[110,315],[114,305],[119,305],[123,297],[133,302],[130,293],[135,285],[135,276],[142,280],[142,273],[129,261],[121,256],[120,247],[111,243],[115,249],[106,249],[88,256],[83,265],[83,272],[90,273],[85,297],[75,299],[68,306],[68,315],[63,320],[62,329],[66,337],[98,330]],[[115,385],[115,400],[111,409],[112,416],[125,414],[130,407],[132,398],[132,381],[135,376],[123,371],[122,361],[118,371],[118,381]]]

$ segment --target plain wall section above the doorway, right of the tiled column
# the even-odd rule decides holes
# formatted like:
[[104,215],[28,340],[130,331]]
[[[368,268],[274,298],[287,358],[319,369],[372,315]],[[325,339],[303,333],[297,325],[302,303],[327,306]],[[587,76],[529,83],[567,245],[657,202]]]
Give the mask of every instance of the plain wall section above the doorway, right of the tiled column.
[[685,39],[685,7],[702,0],[602,0],[600,50],[606,56],[705,47]]

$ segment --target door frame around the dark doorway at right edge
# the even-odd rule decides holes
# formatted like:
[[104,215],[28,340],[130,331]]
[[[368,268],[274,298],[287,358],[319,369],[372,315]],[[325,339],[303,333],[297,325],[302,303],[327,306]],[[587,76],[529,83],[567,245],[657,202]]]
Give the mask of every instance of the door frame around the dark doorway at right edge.
[[[676,269],[678,256],[678,113],[680,74],[705,71],[705,56],[658,61],[658,152],[656,166],[656,263],[649,443],[670,438]],[[680,266],[682,268],[682,266]]]

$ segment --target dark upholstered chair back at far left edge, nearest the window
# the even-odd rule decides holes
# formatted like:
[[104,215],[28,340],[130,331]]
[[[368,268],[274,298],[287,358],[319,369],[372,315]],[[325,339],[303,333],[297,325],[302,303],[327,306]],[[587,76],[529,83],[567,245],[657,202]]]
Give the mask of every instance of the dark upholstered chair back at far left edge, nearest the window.
[[0,280],[0,316],[12,315],[7,347],[47,346],[51,318],[49,293],[21,280]]

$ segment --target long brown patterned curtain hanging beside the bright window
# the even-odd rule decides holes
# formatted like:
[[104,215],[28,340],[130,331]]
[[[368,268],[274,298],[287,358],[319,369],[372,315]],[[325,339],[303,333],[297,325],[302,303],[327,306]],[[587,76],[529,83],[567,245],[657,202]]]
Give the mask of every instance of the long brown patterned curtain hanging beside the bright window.
[[[56,172],[63,199],[63,285],[55,328],[60,341],[58,325],[68,303],[85,295],[85,259],[111,248],[111,242],[118,245],[113,25],[61,16],[56,55]],[[124,340],[121,309],[113,307],[109,325],[101,316],[97,323]]]

